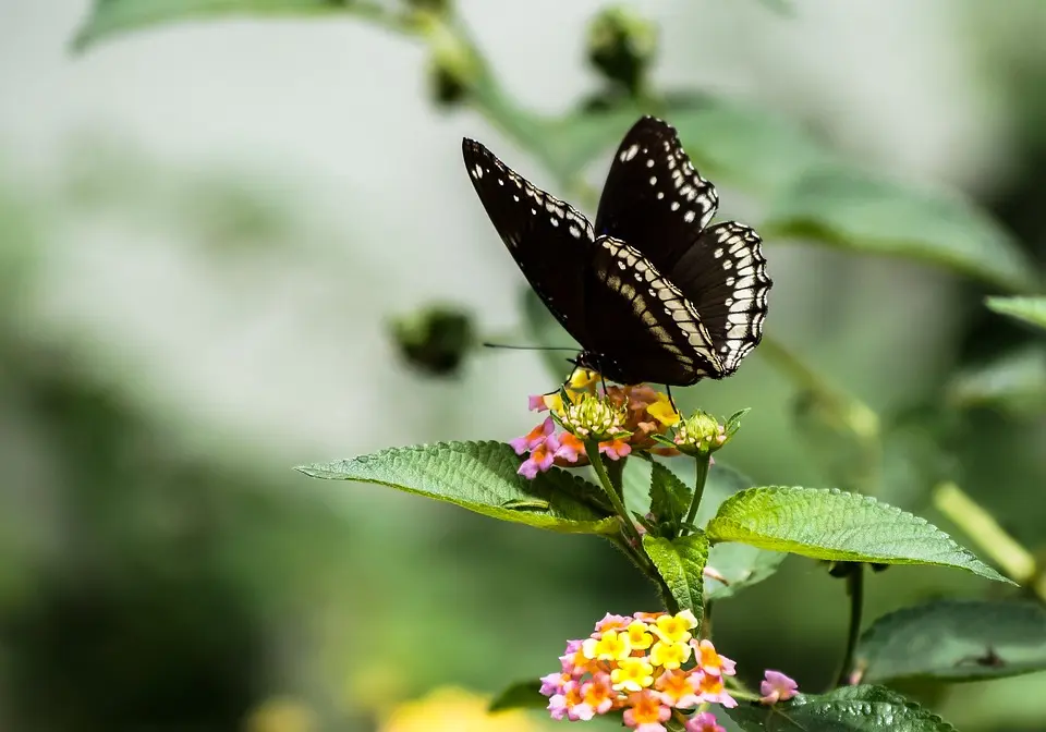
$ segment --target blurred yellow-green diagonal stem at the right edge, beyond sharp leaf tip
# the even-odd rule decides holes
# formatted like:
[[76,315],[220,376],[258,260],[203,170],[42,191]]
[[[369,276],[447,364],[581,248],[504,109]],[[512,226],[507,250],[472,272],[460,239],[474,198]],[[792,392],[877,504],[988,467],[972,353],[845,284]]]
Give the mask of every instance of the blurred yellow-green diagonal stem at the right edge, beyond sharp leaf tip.
[[954,483],[934,488],[934,505],[958,526],[1002,574],[1019,585],[1030,586],[1039,599],[1046,600],[1046,576],[1035,557]]

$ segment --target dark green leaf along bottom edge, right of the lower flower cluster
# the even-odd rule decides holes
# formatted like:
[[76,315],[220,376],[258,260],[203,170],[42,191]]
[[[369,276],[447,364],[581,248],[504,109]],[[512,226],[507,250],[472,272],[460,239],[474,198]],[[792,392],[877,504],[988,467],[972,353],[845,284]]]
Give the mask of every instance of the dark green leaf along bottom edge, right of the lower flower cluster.
[[881,686],[801,694],[773,707],[742,704],[727,713],[745,732],[956,732],[928,709]]

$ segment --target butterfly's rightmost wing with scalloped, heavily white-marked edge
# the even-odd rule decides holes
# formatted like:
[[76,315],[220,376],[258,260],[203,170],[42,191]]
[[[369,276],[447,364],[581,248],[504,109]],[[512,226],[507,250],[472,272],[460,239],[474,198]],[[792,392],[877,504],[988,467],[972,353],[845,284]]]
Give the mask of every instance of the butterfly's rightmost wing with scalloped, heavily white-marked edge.
[[720,377],[735,371],[763,337],[773,282],[761,242],[755,230],[742,223],[717,223],[701,232],[669,273],[715,343]]

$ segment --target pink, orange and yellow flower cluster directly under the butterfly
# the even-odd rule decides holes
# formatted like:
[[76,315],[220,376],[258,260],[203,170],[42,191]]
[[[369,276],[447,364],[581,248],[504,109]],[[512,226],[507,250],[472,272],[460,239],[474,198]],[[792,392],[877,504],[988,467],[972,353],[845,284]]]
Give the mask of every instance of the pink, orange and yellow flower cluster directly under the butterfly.
[[[552,465],[587,465],[586,439],[597,439],[599,452],[610,460],[633,451],[679,454],[657,439],[680,420],[667,394],[647,386],[601,389],[598,382],[598,374],[579,369],[561,392],[530,398],[532,411],[550,414],[509,442],[518,455],[530,453],[520,465],[520,475],[533,479]],[[557,423],[563,427],[558,432]]]

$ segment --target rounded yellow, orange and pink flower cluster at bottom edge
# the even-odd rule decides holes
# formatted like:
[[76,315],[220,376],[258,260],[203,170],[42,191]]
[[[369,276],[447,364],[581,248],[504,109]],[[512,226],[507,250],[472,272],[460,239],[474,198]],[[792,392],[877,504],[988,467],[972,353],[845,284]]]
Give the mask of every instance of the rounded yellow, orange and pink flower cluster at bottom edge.
[[690,610],[608,613],[589,637],[567,644],[560,671],[542,679],[552,718],[621,712],[636,732],[666,732],[674,716],[688,732],[722,730],[707,707],[737,706],[723,683],[734,663],[711,640],[693,637],[696,626]]

